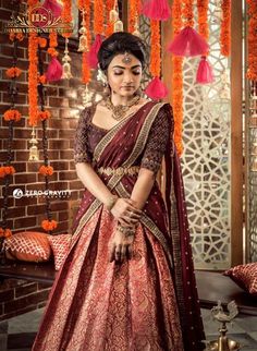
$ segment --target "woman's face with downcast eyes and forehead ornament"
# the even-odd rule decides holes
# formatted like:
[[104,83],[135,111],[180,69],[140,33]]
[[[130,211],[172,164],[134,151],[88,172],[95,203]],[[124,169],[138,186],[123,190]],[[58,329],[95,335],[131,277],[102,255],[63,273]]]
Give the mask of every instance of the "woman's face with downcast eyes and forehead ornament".
[[113,93],[132,96],[140,86],[140,61],[131,53],[117,55],[108,66],[107,80]]

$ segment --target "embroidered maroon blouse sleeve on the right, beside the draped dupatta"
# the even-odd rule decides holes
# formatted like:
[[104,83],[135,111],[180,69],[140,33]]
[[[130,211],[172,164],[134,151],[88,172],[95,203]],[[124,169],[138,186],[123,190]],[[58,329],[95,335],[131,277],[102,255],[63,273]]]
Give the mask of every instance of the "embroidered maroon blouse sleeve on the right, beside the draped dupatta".
[[143,154],[140,167],[147,168],[157,173],[162,156],[168,146],[170,134],[173,132],[172,110],[169,104],[166,104],[159,111],[151,125],[146,147]]

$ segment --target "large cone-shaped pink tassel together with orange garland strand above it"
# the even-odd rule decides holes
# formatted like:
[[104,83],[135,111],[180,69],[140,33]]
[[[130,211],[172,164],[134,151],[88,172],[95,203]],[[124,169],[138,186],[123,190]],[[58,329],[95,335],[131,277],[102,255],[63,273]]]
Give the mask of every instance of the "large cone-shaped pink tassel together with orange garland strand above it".
[[185,27],[176,34],[172,43],[168,46],[168,51],[182,57],[205,55],[209,46],[205,38],[193,28],[193,0],[184,0],[182,11],[183,17],[185,19]]

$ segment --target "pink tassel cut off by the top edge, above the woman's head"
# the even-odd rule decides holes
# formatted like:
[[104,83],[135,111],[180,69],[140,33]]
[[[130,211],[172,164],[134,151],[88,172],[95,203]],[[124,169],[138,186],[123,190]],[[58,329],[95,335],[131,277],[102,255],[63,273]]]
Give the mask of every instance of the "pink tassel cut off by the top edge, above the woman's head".
[[167,21],[171,10],[167,0],[145,0],[142,13],[151,20]]

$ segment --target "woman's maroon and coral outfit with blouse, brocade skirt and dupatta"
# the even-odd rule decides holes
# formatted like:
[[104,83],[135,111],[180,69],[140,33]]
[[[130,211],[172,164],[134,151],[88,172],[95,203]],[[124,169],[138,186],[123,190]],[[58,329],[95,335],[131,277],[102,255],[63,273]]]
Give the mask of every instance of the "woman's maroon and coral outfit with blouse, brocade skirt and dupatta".
[[170,105],[149,101],[110,131],[94,128],[93,110],[85,109],[79,119],[75,161],[91,161],[113,194],[130,197],[137,173],[119,170],[156,170],[164,154],[166,202],[155,182],[136,229],[133,256],[117,264],[108,257],[117,220],[85,190],[72,245],[33,350],[203,350],[183,182],[169,137]]

